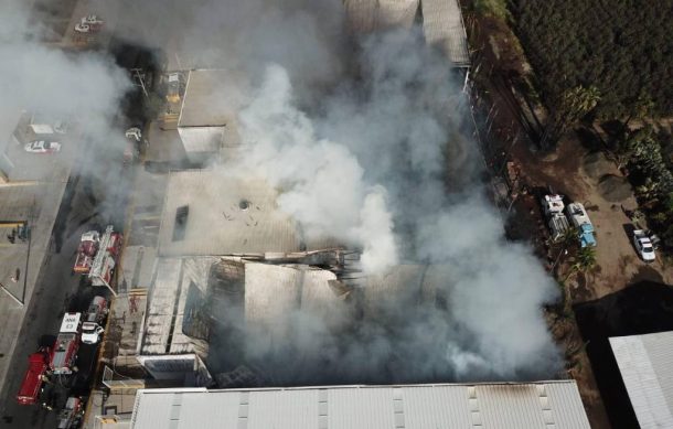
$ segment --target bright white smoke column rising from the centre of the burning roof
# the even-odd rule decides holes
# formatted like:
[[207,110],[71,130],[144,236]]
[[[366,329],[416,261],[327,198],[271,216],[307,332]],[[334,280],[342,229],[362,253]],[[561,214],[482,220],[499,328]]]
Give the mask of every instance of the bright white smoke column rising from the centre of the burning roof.
[[367,272],[397,264],[384,189],[364,181],[345,146],[316,135],[311,120],[292,104],[282,67],[267,68],[256,97],[241,114],[239,132],[245,154],[231,167],[278,186],[280,208],[295,216],[309,239],[336,237],[361,247]]

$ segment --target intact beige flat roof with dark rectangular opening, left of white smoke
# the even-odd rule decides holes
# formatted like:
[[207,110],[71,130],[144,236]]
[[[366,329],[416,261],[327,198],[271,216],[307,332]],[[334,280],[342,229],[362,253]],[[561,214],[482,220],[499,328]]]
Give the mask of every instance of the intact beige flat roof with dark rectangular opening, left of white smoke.
[[[302,249],[293,218],[276,203],[278,191],[260,179],[211,170],[172,172],[159,230],[160,256],[236,256]],[[189,213],[178,221],[178,210]],[[177,221],[181,234],[175,233]],[[324,242],[306,243],[307,249]],[[317,247],[318,246],[318,247]]]

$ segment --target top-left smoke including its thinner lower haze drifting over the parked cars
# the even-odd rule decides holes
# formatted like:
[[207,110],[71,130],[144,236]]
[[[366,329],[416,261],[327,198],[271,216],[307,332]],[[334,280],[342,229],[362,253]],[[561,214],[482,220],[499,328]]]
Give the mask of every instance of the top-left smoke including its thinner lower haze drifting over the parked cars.
[[[25,162],[13,167],[10,176],[25,176],[19,170],[28,169],[29,175],[49,181],[55,179],[55,172],[72,168],[73,175],[79,174],[83,183],[90,183],[103,197],[96,212],[106,219],[119,221],[124,190],[118,178],[126,141],[117,124],[119,101],[130,88],[127,74],[103,53],[43,43],[60,35],[41,23],[41,9],[31,11],[31,4],[21,0],[0,2],[0,152],[12,152],[10,159],[21,159],[22,144],[11,136],[23,112],[39,124],[67,125],[67,135],[47,137],[63,144],[60,153],[50,155],[53,162],[33,165],[31,155],[23,154]],[[25,129],[26,124],[20,127]]]

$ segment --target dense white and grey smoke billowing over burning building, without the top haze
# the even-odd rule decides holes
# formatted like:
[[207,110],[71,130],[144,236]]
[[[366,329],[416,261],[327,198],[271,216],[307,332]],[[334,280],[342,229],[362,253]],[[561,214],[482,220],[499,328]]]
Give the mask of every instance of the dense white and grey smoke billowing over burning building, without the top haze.
[[248,358],[299,384],[549,376],[558,361],[541,307],[555,287],[528,248],[504,239],[446,63],[408,34],[368,41],[361,58],[374,73],[338,86],[314,118],[292,103],[287,72],[269,66],[241,115],[237,165],[279,186],[280,207],[312,234],[361,246],[364,270],[384,283],[399,262],[446,267],[446,304],[419,304],[409,281],[367,302],[348,335],[302,309],[288,344],[248,335]]

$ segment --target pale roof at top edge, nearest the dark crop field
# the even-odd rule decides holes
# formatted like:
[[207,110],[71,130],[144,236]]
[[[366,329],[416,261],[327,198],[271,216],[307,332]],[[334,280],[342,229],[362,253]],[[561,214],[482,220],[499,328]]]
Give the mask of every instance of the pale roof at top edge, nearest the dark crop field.
[[423,0],[420,8],[427,43],[439,47],[453,64],[469,65],[468,40],[458,0]]

